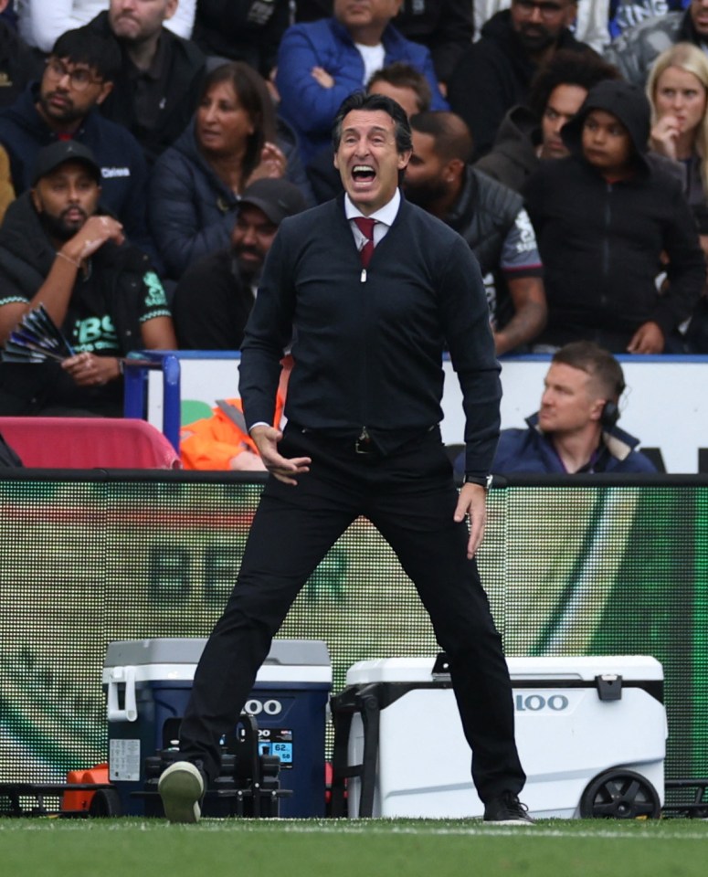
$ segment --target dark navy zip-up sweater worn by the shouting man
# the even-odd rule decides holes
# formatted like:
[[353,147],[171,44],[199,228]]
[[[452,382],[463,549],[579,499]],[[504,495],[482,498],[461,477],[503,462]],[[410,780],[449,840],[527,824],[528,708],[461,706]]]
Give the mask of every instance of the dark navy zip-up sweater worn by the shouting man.
[[456,232],[401,200],[363,272],[343,195],[283,220],[241,346],[248,425],[272,418],[292,338],[288,419],[391,453],[442,419],[445,343],[462,388],[465,470],[489,471],[499,434],[499,364],[479,264]]

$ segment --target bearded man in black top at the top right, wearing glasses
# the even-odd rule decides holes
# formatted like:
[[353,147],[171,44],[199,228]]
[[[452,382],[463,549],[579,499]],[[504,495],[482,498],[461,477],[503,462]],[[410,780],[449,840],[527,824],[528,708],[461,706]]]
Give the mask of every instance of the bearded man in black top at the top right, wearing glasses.
[[450,108],[467,122],[474,158],[491,149],[504,113],[525,103],[534,73],[559,48],[592,51],[568,29],[576,0],[512,0],[481,28],[448,85]]

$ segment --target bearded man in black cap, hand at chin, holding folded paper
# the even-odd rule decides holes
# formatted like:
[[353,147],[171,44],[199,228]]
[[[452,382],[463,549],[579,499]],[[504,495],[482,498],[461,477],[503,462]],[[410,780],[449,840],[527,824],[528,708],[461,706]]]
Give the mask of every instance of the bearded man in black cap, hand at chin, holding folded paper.
[[0,228],[0,343],[44,305],[73,355],[0,365],[0,415],[122,416],[122,358],[174,349],[172,319],[147,256],[101,214],[100,166],[82,143],[40,150],[33,186]]

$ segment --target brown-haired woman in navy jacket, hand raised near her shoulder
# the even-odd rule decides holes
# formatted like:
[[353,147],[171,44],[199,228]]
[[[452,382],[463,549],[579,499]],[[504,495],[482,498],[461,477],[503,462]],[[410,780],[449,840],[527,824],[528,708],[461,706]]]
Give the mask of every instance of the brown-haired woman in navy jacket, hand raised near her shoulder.
[[243,190],[287,177],[312,203],[294,134],[276,122],[264,79],[248,64],[206,76],[193,122],[153,168],[149,217],[167,276],[227,248]]

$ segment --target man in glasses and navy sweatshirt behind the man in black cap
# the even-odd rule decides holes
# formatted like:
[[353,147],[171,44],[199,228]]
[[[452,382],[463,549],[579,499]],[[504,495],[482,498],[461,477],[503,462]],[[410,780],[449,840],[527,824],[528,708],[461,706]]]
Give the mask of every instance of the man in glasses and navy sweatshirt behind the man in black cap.
[[39,150],[61,140],[88,146],[100,164],[101,205],[117,217],[126,237],[152,254],[145,223],[147,165],[131,132],[104,119],[121,51],[112,39],[85,29],[58,38],[38,83],[0,112],[0,143],[10,156],[16,195],[32,185]]

